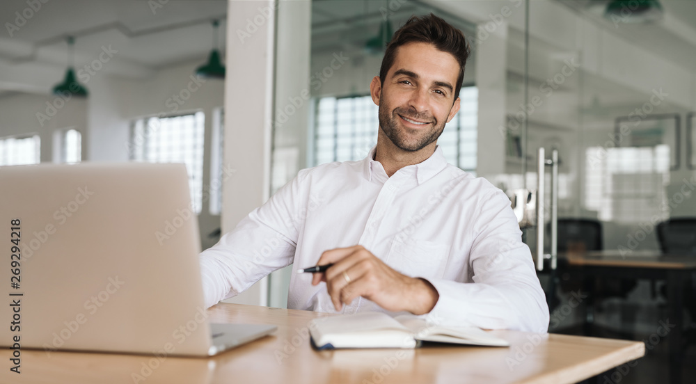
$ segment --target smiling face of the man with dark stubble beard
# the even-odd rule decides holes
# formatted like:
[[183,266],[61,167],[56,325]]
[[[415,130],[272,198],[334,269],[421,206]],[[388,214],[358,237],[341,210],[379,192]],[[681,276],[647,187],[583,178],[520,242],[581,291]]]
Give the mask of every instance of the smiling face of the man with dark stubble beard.
[[406,152],[435,145],[459,111],[454,86],[459,63],[451,54],[423,42],[397,49],[394,64],[383,85],[372,80],[372,99],[379,105],[379,127],[383,134]]

